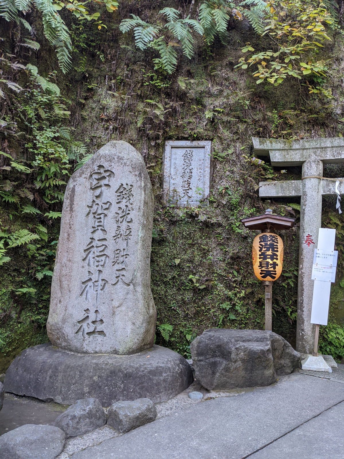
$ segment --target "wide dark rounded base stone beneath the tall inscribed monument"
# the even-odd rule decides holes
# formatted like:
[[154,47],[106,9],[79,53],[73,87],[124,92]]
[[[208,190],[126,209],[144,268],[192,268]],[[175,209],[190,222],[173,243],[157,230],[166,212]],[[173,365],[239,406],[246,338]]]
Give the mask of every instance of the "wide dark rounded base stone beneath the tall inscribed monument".
[[118,400],[164,402],[193,381],[188,362],[166,347],[132,355],[78,354],[50,343],[22,351],[7,370],[5,391],[72,404],[94,397],[102,406]]

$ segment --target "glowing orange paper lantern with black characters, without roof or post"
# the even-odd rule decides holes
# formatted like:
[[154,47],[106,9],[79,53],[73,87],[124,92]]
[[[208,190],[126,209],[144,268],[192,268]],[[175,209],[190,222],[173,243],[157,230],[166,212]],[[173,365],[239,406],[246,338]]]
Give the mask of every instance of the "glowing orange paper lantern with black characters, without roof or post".
[[255,236],[252,245],[252,261],[259,280],[276,280],[283,267],[283,241],[274,233]]

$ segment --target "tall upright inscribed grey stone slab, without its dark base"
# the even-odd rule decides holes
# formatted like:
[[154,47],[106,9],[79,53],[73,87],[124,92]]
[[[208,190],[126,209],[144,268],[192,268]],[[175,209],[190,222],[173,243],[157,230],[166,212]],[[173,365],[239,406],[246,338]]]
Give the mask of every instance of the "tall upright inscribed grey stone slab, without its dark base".
[[142,155],[126,142],[97,151],[68,181],[47,331],[80,353],[152,346],[153,193]]

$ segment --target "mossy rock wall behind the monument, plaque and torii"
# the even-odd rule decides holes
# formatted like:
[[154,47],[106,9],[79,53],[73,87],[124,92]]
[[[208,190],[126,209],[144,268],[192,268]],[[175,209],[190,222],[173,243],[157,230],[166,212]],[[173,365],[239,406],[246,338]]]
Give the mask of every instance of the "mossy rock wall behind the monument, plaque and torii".
[[[134,5],[128,8],[121,10],[123,17],[139,11]],[[153,21],[159,6],[154,8],[148,3],[141,5],[141,17]],[[207,48],[199,43],[194,59],[182,59],[171,76],[154,68],[151,53],[136,50],[131,37],[120,34],[116,14],[101,34],[86,24],[81,30],[74,25],[75,68],[65,76],[58,73],[56,82],[70,101],[69,126],[74,141],[83,142],[93,153],[109,140],[125,140],[146,162],[155,194],[151,281],[158,311],[156,343],[189,357],[190,341],[207,328],[264,328],[264,287],[251,265],[251,246],[257,233],[244,229],[240,220],[270,207],[273,213],[296,218],[293,229],[280,232],[284,268],[273,285],[272,318],[273,330],[294,345],[299,212],[290,203],[300,202],[262,202],[258,185],[269,179],[300,179],[301,169],[272,168],[266,158],[255,158],[251,136],[301,139],[344,135],[342,36],[334,36],[323,51],[323,56],[333,59],[334,95],[334,99],[323,101],[309,95],[298,81],[286,81],[277,88],[257,86],[250,72],[234,69],[242,56],[240,46],[248,41],[257,47],[264,45],[264,38],[255,35],[247,22],[230,30],[228,45],[217,43]],[[47,72],[51,68],[48,48],[42,48],[39,65]],[[161,188],[166,140],[212,141],[209,205],[166,205]],[[340,173],[343,176],[340,167],[325,167],[327,176]],[[5,222],[7,215],[8,208],[3,205],[0,219]],[[323,226],[340,229],[339,251],[343,248],[342,225],[334,197],[326,199]],[[47,243],[57,239],[58,223],[48,232]],[[19,248],[12,252],[13,263],[0,268],[6,278],[0,304],[7,318],[1,329],[0,372],[23,348],[47,341],[44,318],[50,279],[33,280],[29,261],[19,260]],[[339,257],[330,317],[333,323],[342,324],[341,253]],[[8,293],[23,284],[37,287],[33,301],[27,304]],[[39,320],[33,313],[37,304],[41,305]]]

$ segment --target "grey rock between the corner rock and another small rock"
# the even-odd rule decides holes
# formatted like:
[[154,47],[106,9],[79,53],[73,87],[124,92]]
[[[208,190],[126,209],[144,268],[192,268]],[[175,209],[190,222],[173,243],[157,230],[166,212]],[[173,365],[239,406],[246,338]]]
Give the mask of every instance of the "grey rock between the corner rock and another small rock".
[[52,425],[66,432],[68,437],[77,437],[94,431],[106,422],[106,414],[97,398],[77,400]]

